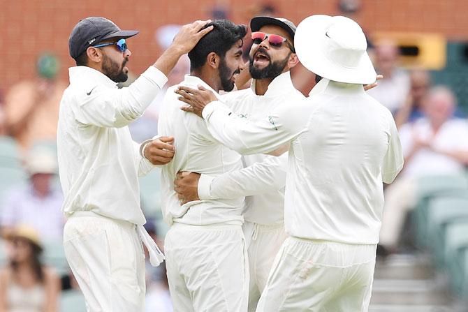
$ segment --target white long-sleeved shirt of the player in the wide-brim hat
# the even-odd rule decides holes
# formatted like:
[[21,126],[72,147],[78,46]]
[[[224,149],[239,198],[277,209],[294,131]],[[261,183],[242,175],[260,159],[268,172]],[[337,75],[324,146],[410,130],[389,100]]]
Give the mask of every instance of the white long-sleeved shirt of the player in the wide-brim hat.
[[347,244],[379,241],[382,181],[395,179],[403,156],[392,114],[362,85],[330,81],[319,94],[284,103],[255,122],[230,113],[217,101],[205,107],[203,117],[214,138],[242,154],[291,142],[284,207],[289,235]]

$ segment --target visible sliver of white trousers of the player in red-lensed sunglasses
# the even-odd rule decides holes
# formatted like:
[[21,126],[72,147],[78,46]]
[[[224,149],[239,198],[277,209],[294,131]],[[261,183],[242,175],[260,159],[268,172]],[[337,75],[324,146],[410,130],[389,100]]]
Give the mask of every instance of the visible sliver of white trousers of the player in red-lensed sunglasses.
[[284,224],[261,225],[246,221],[243,229],[249,255],[249,311],[255,311],[275,256],[287,235]]

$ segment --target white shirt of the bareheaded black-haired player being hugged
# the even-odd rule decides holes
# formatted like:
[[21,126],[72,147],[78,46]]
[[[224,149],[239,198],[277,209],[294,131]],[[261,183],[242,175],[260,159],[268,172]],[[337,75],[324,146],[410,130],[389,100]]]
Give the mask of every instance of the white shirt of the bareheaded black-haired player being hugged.
[[[186,75],[179,85],[196,89],[198,84],[213,89],[198,77]],[[173,222],[190,225],[216,223],[239,224],[242,218],[244,197],[231,199],[197,200],[180,205],[174,191],[175,175],[179,171],[198,172],[217,177],[224,172],[242,169],[240,155],[214,140],[205,121],[195,114],[183,112],[183,103],[170,87],[159,115],[159,135],[174,137],[175,156],[161,170],[161,198],[163,218],[169,225]],[[218,96],[216,91],[214,94]]]

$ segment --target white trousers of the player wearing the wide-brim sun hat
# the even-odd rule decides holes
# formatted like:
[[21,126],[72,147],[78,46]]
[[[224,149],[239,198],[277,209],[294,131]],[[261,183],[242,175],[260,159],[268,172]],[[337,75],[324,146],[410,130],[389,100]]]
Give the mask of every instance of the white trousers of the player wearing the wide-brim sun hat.
[[256,311],[367,311],[375,256],[376,245],[288,237]]

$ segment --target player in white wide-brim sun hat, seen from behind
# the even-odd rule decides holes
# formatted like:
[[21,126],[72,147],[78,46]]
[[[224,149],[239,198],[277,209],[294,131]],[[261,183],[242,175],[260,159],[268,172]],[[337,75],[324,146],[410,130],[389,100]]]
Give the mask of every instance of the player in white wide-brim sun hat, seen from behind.
[[203,87],[180,87],[214,138],[241,154],[290,142],[284,216],[290,237],[257,311],[368,309],[382,182],[395,179],[403,157],[392,115],[365,94],[363,84],[376,80],[366,48],[353,20],[307,17],[295,33],[295,50],[306,68],[326,78],[316,86],[323,90],[257,121],[235,117]]

